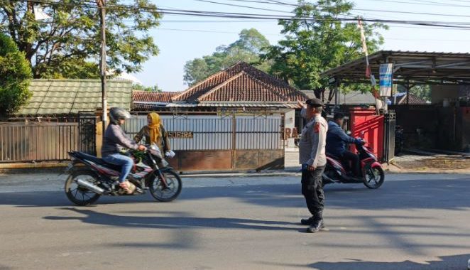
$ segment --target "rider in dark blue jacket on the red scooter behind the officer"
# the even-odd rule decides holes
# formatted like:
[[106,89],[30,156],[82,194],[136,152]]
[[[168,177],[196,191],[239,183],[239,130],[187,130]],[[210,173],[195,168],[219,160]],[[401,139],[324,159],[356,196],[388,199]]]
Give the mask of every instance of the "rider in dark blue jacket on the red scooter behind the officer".
[[355,139],[348,136],[341,126],[343,126],[344,114],[337,112],[334,114],[333,121],[328,123],[327,132],[327,153],[330,153],[344,161],[351,161],[352,173],[359,177],[359,156],[346,149],[346,144],[361,144],[361,139]]

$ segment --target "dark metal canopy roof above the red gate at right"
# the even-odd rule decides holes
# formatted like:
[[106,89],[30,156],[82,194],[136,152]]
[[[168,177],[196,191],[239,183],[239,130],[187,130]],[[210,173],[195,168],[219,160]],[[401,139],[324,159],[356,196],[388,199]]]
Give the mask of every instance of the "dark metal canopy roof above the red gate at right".
[[[426,53],[381,50],[369,55],[371,72],[378,80],[381,63],[393,63],[397,84],[470,85],[470,53]],[[360,58],[322,73],[341,83],[370,82],[366,58]]]

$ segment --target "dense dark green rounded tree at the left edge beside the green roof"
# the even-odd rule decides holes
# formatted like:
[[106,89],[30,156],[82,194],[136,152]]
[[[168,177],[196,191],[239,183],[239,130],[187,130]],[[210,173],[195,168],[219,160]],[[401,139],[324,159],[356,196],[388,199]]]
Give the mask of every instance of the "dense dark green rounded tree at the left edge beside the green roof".
[[16,112],[28,102],[31,68],[13,40],[0,33],[0,115]]

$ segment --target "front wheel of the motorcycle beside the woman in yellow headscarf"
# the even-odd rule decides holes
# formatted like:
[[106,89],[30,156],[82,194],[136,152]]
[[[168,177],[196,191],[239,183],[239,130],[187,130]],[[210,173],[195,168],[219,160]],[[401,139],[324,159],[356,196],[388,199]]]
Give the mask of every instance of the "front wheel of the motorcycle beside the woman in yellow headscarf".
[[[156,175],[148,185],[151,195],[155,200],[159,202],[171,202],[175,200],[181,193],[182,182],[180,175],[175,171],[161,172],[163,178],[160,175]],[[166,183],[166,186],[165,184]]]

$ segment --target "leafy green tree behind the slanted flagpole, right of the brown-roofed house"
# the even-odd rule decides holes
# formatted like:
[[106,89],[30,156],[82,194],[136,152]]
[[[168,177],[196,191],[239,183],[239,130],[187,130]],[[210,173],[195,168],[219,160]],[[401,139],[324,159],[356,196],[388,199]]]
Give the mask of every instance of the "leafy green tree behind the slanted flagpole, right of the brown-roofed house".
[[[346,0],[318,0],[315,4],[299,1],[294,10],[296,20],[279,21],[285,38],[262,56],[272,61],[270,73],[303,90],[327,87],[328,78],[320,77],[322,72],[363,55],[357,23],[338,19],[349,14],[353,6]],[[364,23],[370,52],[383,43],[376,29],[385,27]]]

